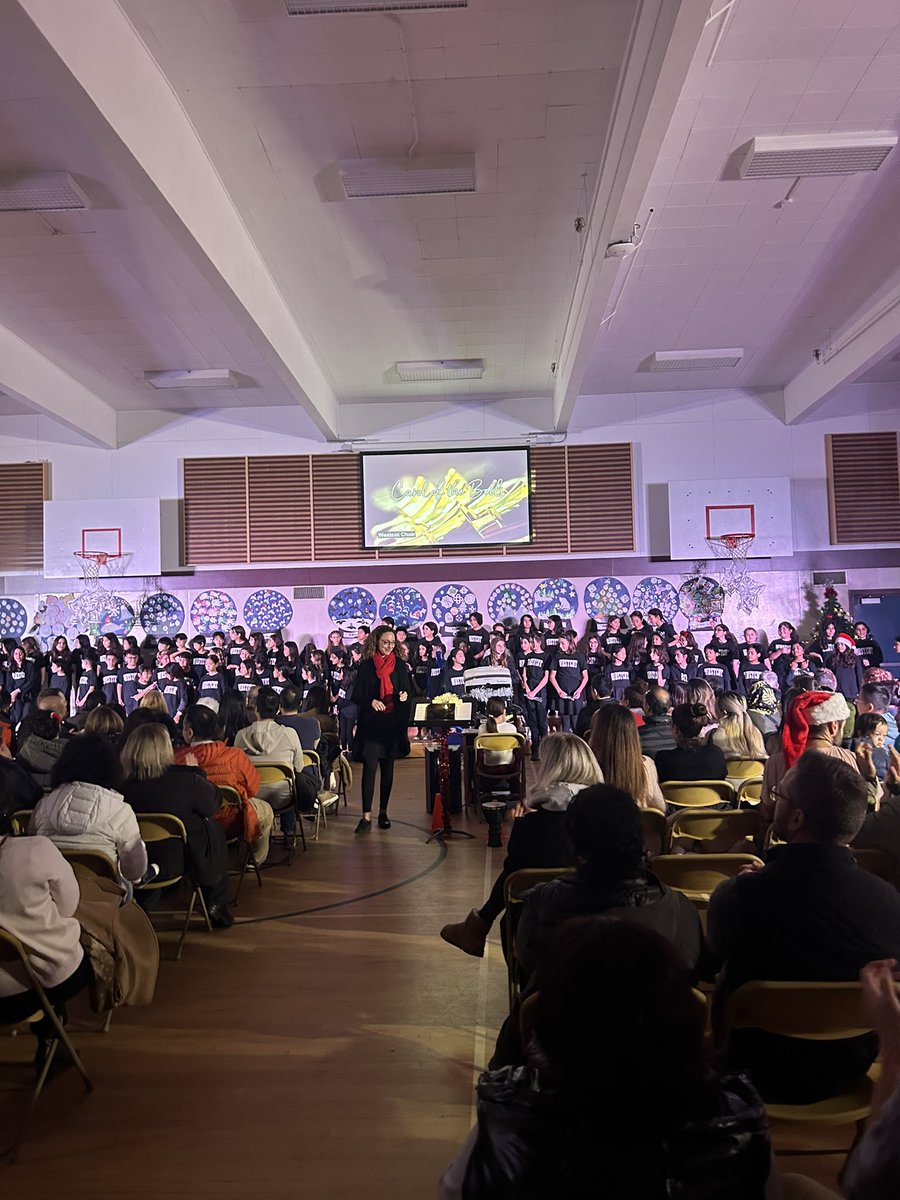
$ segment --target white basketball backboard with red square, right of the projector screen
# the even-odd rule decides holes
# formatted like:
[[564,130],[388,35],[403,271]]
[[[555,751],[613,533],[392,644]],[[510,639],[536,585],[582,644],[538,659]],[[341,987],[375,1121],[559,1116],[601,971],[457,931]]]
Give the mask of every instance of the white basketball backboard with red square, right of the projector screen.
[[748,558],[793,554],[790,479],[677,480],[668,485],[670,553],[712,558],[707,539],[752,538]]

